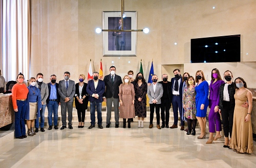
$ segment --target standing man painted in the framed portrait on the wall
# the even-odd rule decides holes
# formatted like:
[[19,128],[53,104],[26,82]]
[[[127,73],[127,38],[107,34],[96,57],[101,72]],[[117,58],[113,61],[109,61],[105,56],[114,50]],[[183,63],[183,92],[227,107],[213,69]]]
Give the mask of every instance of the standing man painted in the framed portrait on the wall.
[[[122,19],[118,20],[119,25],[115,27],[116,32],[112,33],[112,36],[116,36],[116,50],[125,50],[125,32],[118,32],[121,30]],[[123,30],[126,30],[126,27],[123,26]]]

